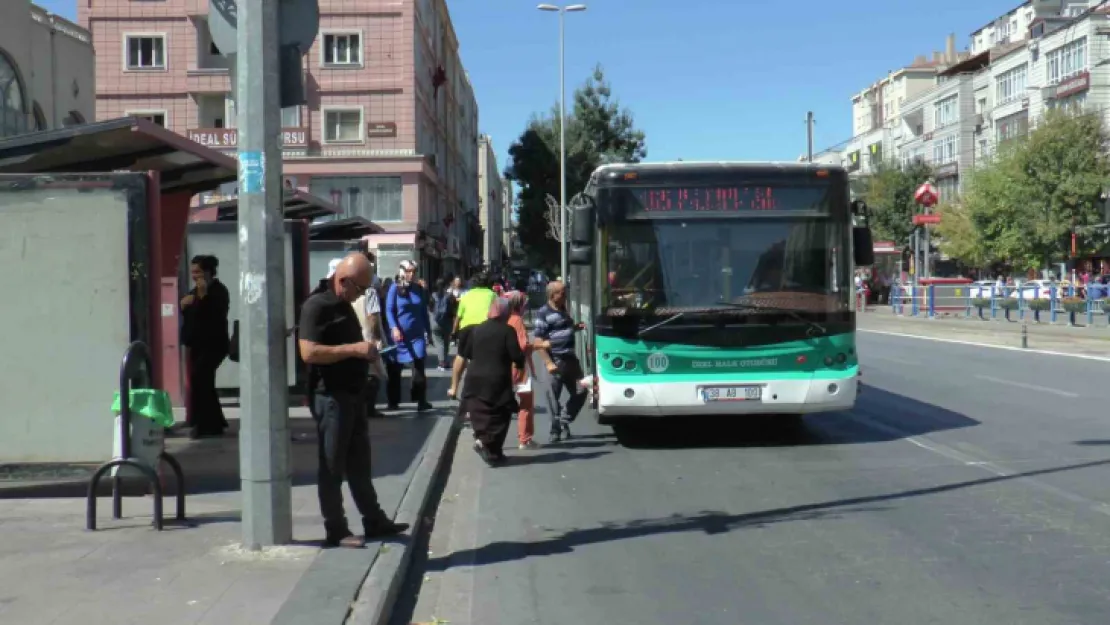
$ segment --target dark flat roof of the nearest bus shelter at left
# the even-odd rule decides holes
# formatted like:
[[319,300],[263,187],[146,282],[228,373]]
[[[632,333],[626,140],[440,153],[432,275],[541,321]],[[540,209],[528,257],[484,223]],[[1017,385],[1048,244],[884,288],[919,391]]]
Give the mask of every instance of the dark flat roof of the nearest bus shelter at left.
[[0,140],[0,173],[157,171],[162,193],[235,180],[235,159],[153,122],[125,117]]

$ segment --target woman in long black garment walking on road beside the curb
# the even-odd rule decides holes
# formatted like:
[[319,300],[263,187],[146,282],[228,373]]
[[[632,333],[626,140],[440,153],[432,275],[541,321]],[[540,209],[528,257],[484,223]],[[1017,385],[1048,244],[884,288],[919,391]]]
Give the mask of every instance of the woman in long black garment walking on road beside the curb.
[[490,319],[474,326],[460,352],[470,361],[460,409],[470,413],[474,451],[491,466],[505,461],[505,437],[518,410],[513,365],[524,367],[524,351],[508,324],[508,303],[495,298]]

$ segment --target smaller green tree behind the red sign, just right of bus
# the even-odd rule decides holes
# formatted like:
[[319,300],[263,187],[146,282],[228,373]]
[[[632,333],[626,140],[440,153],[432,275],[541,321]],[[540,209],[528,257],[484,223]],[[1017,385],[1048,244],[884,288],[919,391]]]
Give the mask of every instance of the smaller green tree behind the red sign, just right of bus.
[[921,161],[902,167],[887,162],[876,168],[862,184],[864,201],[871,209],[871,230],[877,240],[908,245],[914,231],[914,215],[920,206],[914,193],[922,182],[932,178],[932,169]]

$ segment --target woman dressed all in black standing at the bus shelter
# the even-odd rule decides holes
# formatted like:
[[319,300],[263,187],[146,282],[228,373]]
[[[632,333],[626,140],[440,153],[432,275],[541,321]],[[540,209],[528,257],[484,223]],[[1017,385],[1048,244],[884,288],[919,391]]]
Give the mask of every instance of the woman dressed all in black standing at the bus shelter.
[[181,343],[188,353],[188,415],[193,437],[219,436],[228,427],[215,390],[215,372],[228,357],[231,343],[228,334],[231,296],[216,278],[219,266],[215,256],[193,256],[189,273],[195,286],[181,299],[184,317]]

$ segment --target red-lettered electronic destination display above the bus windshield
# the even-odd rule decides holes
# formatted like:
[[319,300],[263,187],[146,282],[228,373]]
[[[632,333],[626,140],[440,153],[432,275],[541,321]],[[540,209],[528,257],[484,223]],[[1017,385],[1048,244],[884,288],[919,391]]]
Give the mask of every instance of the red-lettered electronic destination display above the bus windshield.
[[825,211],[826,187],[667,187],[628,189],[633,213]]

